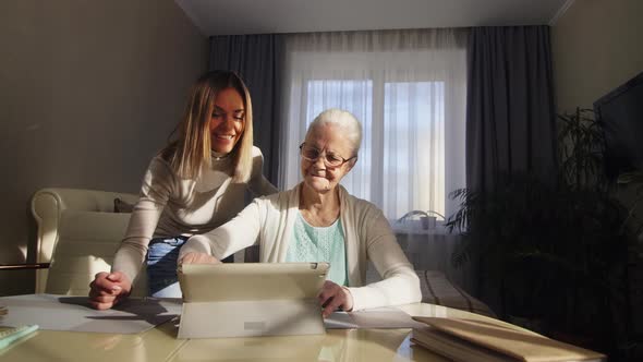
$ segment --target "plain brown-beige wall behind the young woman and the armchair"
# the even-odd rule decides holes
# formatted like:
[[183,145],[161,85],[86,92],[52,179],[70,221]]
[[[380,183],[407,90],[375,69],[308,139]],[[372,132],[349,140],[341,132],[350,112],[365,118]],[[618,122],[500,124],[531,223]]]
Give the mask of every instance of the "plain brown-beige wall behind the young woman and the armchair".
[[[1,264],[26,260],[38,189],[137,193],[207,69],[208,40],[172,0],[8,0],[0,53]],[[33,283],[0,273],[0,294]]]

